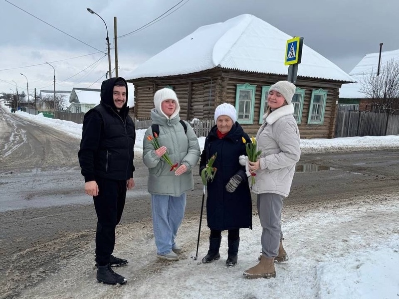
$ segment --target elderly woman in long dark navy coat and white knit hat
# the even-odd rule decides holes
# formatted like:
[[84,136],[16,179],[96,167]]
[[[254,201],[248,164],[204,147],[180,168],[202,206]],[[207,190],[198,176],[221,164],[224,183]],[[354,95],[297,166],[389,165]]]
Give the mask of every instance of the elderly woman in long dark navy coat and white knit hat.
[[245,167],[239,156],[245,154],[245,143],[250,142],[242,127],[236,122],[234,106],[223,103],[216,107],[216,125],[205,140],[200,157],[200,173],[209,158],[217,153],[213,162],[216,172],[207,182],[206,220],[210,228],[209,250],[202,263],[220,259],[221,231],[228,230],[227,266],[237,264],[239,229],[252,229],[252,200]]

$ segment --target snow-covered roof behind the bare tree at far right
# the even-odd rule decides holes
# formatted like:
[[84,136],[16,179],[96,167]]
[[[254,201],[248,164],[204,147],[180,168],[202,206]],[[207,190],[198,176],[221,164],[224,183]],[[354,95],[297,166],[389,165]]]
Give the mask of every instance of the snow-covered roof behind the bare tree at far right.
[[[349,73],[357,83],[345,84],[340,88],[340,98],[342,99],[366,99],[364,93],[360,90],[362,88],[362,80],[364,77],[372,73],[377,73],[378,60],[380,52],[367,54],[363,59],[353,68]],[[399,50],[381,52],[380,69],[392,59],[399,59]]]

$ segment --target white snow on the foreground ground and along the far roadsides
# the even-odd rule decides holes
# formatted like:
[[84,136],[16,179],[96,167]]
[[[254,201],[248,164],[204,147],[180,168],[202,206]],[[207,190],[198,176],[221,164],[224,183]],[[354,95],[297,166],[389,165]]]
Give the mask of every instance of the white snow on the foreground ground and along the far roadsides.
[[[58,128],[80,138],[81,125],[18,115]],[[144,130],[137,132],[140,150]],[[200,138],[203,147],[203,139]],[[302,152],[399,149],[398,136],[302,140]],[[332,182],[333,183],[333,182]],[[184,247],[178,262],[156,260],[152,225],[148,222],[118,227],[116,255],[130,260],[116,271],[128,278],[125,286],[106,286],[95,280],[94,242],[81,254],[61,262],[55,274],[26,289],[20,298],[193,298],[193,299],[399,299],[399,194],[346,198],[326,206],[292,205],[283,210],[282,227],[290,260],[277,264],[277,277],[246,280],[242,273],[257,263],[261,227],[257,215],[253,230],[242,229],[236,267],[224,266],[227,257],[223,234],[221,259],[201,264],[196,253],[199,217],[186,218],[178,233]],[[208,229],[202,222],[199,260],[207,251]]]

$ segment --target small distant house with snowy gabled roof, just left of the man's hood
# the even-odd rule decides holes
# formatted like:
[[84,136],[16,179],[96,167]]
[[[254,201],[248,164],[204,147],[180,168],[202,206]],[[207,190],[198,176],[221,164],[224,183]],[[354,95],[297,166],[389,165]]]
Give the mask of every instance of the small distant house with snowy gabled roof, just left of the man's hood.
[[69,107],[67,111],[72,113],[86,113],[91,108],[100,104],[100,89],[73,88],[69,96]]

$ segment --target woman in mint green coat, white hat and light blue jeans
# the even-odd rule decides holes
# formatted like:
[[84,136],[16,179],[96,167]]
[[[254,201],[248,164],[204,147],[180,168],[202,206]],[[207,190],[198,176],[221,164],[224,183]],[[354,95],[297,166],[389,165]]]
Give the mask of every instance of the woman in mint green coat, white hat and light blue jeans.
[[[192,169],[200,158],[200,146],[190,124],[182,124],[180,120],[179,99],[172,89],[158,90],[154,105],[151,119],[159,130],[160,148],[154,149],[147,139],[154,136],[152,127],[148,128],[143,139],[143,161],[149,170],[147,185],[157,255],[160,259],[176,261],[179,259],[176,253],[182,248],[175,238],[184,217],[186,192],[194,188]],[[175,169],[162,157],[166,152],[172,163],[178,163]]]

